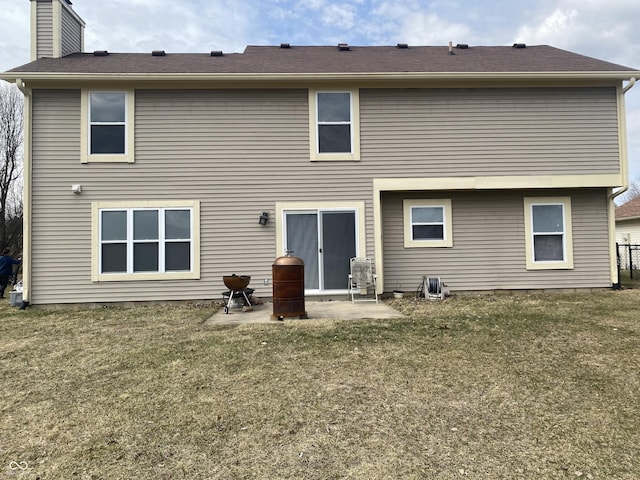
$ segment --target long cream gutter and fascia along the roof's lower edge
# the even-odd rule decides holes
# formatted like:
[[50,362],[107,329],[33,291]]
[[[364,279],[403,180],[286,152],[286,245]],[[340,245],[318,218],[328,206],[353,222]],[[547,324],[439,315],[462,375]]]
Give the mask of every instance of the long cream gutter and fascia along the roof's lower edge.
[[282,80],[629,80],[640,71],[596,72],[356,72],[356,73],[69,73],[69,72],[4,72],[6,81],[282,81]]

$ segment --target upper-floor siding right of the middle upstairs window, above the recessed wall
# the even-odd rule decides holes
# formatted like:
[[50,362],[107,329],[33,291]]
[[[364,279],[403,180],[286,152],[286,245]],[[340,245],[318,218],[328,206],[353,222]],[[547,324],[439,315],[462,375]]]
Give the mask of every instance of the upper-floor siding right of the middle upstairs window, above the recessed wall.
[[619,171],[614,88],[361,90],[360,107],[380,176]]

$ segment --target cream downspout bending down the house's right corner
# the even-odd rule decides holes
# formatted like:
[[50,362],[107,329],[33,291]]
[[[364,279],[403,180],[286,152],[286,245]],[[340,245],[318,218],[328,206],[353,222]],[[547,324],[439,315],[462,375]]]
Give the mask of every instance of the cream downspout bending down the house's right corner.
[[624,95],[636,84],[636,77],[631,77],[618,95],[619,115],[618,131],[620,132],[620,176],[622,178],[622,188],[609,194],[609,242],[611,258],[611,279],[614,289],[620,288],[620,278],[618,277],[618,252],[616,247],[616,197],[622,195],[629,189],[629,158],[627,151],[627,122],[624,105]]

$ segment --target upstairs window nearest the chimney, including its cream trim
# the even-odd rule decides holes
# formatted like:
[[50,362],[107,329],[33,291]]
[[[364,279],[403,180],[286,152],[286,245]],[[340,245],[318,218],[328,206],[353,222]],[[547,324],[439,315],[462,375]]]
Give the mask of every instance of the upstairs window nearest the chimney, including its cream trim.
[[82,162],[133,162],[134,92],[82,92]]

